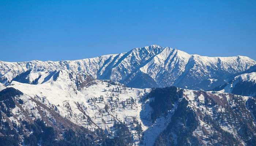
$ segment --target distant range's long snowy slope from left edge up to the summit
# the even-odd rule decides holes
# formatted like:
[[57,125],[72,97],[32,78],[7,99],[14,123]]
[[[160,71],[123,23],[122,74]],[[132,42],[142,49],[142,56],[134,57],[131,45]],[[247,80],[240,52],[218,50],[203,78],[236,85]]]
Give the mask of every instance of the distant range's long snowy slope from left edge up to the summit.
[[29,61],[3,62],[1,61],[1,82],[6,84],[14,77],[28,70],[49,71],[67,69],[73,72],[84,72],[94,78],[119,81],[123,76],[131,73],[140,64],[158,54],[163,48],[157,45],[135,48],[128,53],[103,55],[100,57],[75,61]]

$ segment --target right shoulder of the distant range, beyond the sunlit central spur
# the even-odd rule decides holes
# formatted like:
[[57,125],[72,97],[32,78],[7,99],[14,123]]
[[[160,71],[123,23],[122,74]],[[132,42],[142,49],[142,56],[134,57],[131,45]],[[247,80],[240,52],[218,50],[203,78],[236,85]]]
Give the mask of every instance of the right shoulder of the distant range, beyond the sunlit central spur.
[[186,74],[178,79],[178,87],[187,86],[190,89],[208,90],[216,84],[223,84],[232,74],[243,72],[255,61],[244,56],[237,57],[203,57],[193,55]]

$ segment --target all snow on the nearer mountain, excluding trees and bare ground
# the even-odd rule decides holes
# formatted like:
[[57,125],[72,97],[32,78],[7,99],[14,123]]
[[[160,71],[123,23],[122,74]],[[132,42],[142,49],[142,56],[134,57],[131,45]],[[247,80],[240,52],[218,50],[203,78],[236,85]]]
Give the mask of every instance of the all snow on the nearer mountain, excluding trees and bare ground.
[[[125,122],[133,134],[133,144],[140,145],[139,136],[133,128],[133,118],[135,118],[142,124],[144,144],[152,146],[158,135],[166,129],[174,111],[177,109],[177,104],[175,104],[174,108],[170,110],[166,116],[160,116],[152,123],[150,118],[152,109],[149,103],[153,99],[146,100],[145,98],[145,95],[147,95],[151,89],[127,88],[123,84],[117,83],[117,85],[113,85],[106,81],[95,80],[94,84],[91,84],[89,87],[81,88],[78,91],[75,81],[72,80],[74,77],[70,77],[72,71],[59,70],[59,72],[59,77],[55,81],[53,78],[50,78],[48,81],[44,83],[40,82],[37,85],[12,81],[8,86],[19,89],[24,93],[24,95],[15,98],[23,100],[24,104],[22,104],[22,108],[29,112],[28,116],[33,120],[42,118],[38,108],[41,109],[45,116],[52,118],[48,110],[45,110],[34,102],[34,100],[37,100],[79,126],[87,127],[91,131],[102,128],[105,132],[110,134],[110,137],[113,137],[115,134],[115,129],[113,128],[114,121],[112,120]],[[40,72],[44,77],[48,76],[49,73],[50,72]],[[37,73],[33,72],[33,74],[37,77]],[[72,76],[76,75],[73,74]],[[121,92],[118,92],[118,89],[121,89]],[[218,96],[219,99],[222,100],[231,100],[229,94],[222,93],[222,95],[227,98],[222,98],[219,94],[220,93],[212,94],[210,92],[203,93],[203,91],[184,89],[184,98],[189,101],[188,106],[195,112],[198,110],[206,110],[204,113],[210,116],[213,116],[213,110],[225,111],[225,108],[219,105],[206,108],[204,106],[204,100],[206,98]],[[113,100],[111,100],[110,96],[113,96]],[[135,99],[134,104],[128,103],[131,97]],[[244,97],[244,102],[249,98],[251,97]],[[122,101],[125,101],[125,107],[122,106]],[[106,105],[108,105],[108,111],[105,111]],[[26,117],[19,112],[21,110],[22,109],[19,107],[12,109],[14,116],[10,117],[10,119],[14,120],[16,124],[19,124],[18,119],[26,119]],[[88,115],[91,118],[93,121],[91,125],[88,124],[87,117],[83,118],[84,115]],[[200,126],[196,128],[193,135],[201,135],[203,142],[207,143],[207,141],[204,141],[204,139],[207,139],[207,135],[203,134],[202,127],[209,132],[209,134],[212,134],[214,129],[200,118],[199,123]],[[220,126],[223,130],[233,132],[234,134],[237,132],[234,127],[225,122],[221,123]],[[173,135],[173,137],[175,139],[176,135]]]

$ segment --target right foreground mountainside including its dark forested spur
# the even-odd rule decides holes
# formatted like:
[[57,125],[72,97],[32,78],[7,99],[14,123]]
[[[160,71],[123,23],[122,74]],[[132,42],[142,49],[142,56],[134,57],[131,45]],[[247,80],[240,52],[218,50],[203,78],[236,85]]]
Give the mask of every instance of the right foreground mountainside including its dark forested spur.
[[[254,98],[192,90],[183,93],[184,98],[174,101],[177,107],[154,146],[254,145]],[[159,102],[161,108],[166,101]]]

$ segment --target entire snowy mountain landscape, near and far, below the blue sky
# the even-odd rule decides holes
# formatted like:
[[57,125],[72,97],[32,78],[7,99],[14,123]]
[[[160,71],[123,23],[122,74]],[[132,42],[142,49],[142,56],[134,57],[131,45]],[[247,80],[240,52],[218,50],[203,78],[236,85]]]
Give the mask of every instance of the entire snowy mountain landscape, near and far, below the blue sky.
[[253,146],[256,61],[152,45],[0,61],[0,146]]

